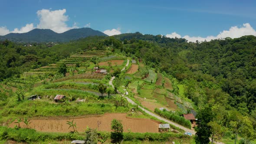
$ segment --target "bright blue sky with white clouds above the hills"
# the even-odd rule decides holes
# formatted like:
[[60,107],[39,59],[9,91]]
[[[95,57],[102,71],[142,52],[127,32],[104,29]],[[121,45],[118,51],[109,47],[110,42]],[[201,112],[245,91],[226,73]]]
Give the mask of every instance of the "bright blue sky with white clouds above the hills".
[[[63,11],[53,13],[58,10]],[[256,35],[255,0],[1,0],[0,13],[0,35],[33,28],[61,33],[86,25],[109,35],[138,31],[205,39],[232,26],[230,37]]]

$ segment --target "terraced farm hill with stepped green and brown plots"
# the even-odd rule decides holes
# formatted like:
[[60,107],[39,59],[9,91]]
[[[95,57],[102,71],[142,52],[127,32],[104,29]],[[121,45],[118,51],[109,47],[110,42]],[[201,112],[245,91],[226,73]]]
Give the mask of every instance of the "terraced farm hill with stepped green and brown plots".
[[[73,130],[82,133],[87,128],[112,132],[112,121],[116,119],[123,125],[124,133],[159,133],[159,124],[166,122],[131,105],[126,97],[141,97],[138,105],[152,112],[154,108],[165,107],[169,111],[177,107],[167,108],[167,102],[161,102],[163,98],[154,98],[154,95],[166,97],[165,88],[154,85],[157,74],[143,63],[129,59],[110,51],[82,51],[55,64],[25,72],[20,78],[8,79],[4,85],[10,87],[6,88],[24,93],[20,97],[22,103],[18,102],[16,107],[9,106],[7,111],[1,112],[7,118],[1,121],[10,128],[64,133],[72,131],[71,125],[67,124],[67,121],[72,121],[75,124]],[[62,69],[66,69],[63,74],[60,73]],[[136,78],[132,78],[133,75]],[[111,78],[114,78],[113,81]],[[20,88],[28,84],[29,91]],[[99,85],[105,87],[103,91],[100,91]],[[150,105],[145,105],[144,97],[149,98]],[[168,131],[178,133],[174,133],[177,140],[179,138],[175,137],[184,132],[174,126]]]

